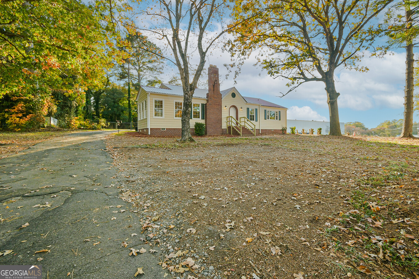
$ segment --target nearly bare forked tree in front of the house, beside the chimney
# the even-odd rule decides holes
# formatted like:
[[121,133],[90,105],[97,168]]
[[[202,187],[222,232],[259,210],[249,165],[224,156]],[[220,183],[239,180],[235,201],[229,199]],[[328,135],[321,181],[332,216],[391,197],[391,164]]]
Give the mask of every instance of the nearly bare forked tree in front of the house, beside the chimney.
[[141,7],[147,7],[140,14],[142,18],[150,18],[151,25],[140,29],[150,34],[151,41],[163,40],[168,51],[160,54],[161,57],[179,71],[184,92],[181,140],[193,141],[189,119],[192,96],[209,51],[230,30],[222,21],[228,1],[147,0]]

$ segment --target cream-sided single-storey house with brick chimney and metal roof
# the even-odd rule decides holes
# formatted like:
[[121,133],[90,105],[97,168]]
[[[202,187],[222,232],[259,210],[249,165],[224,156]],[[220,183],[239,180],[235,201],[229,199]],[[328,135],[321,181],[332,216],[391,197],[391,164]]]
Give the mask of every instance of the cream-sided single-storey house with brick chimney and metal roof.
[[[207,135],[281,134],[287,127],[287,108],[260,98],[244,97],[234,87],[220,91],[218,68],[209,65],[208,88],[195,89],[191,109],[191,134],[196,122],[205,123]],[[180,136],[183,89],[161,84],[141,86],[137,94],[138,132]]]

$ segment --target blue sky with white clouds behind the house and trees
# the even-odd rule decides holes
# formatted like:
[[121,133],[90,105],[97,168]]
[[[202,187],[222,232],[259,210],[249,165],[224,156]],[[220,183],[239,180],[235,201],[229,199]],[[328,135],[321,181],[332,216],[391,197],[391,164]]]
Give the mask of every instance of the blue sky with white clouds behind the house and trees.
[[[142,18],[141,21],[145,29],[158,25],[155,18]],[[210,28],[207,36],[214,36],[220,28],[220,24],[216,23]],[[151,41],[162,49],[167,49],[163,40],[153,39],[153,34],[150,35]],[[234,86],[243,96],[259,97],[285,106],[288,108],[287,119],[328,121],[324,83],[308,82],[279,98],[281,92],[285,93],[289,89],[286,86],[287,81],[270,77],[261,67],[254,66],[256,53],[246,60],[235,80],[233,74],[226,78],[228,69],[223,65],[229,63],[231,58],[227,51],[223,51],[225,39],[225,36],[222,37],[218,44],[212,47],[205,63],[205,68],[210,64],[219,68],[221,90]],[[193,34],[189,41],[191,51],[194,49],[192,42],[196,41]],[[367,72],[357,72],[344,67],[336,69],[335,86],[341,94],[338,98],[340,122],[360,121],[368,128],[375,128],[383,121],[403,118],[405,55],[403,48],[396,49],[382,58],[371,57],[369,52],[365,52],[359,65],[367,67]],[[192,64],[197,62],[193,53],[190,61]],[[177,68],[168,63],[164,69],[162,79],[167,82],[177,72]],[[206,81],[207,77],[204,76],[199,84]],[[419,121],[418,114],[419,112],[415,112],[414,121]]]

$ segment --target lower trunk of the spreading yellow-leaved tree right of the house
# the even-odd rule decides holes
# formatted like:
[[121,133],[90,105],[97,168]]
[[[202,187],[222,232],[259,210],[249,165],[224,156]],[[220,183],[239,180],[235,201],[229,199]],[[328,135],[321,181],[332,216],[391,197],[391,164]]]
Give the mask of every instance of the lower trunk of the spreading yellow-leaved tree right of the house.
[[338,110],[338,97],[340,93],[336,92],[335,81],[333,73],[326,75],[324,84],[326,85],[327,104],[329,106],[329,119],[330,119],[330,132],[331,136],[341,136],[339,124],[339,110]]

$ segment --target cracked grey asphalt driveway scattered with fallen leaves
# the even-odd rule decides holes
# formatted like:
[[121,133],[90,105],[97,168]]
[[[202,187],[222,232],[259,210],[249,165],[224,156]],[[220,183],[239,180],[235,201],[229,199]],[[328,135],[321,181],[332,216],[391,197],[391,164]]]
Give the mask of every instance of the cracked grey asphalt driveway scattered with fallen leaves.
[[0,264],[41,264],[42,278],[134,278],[138,267],[142,279],[163,278],[159,253],[129,256],[127,248],[150,247],[118,198],[103,143],[110,133],[67,134],[0,160],[0,251],[13,250]]

